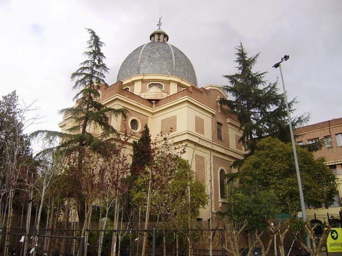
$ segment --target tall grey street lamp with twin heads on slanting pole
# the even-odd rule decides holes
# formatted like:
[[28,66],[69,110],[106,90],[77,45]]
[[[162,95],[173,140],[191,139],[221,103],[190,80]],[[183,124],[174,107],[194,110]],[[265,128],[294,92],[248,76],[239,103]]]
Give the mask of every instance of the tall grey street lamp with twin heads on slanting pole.
[[[290,110],[288,108],[285,84],[284,84],[284,79],[283,79],[283,72],[282,72],[282,67],[281,67],[281,63],[283,61],[287,61],[289,58],[290,58],[290,56],[284,55],[284,57],[281,59],[281,61],[277,62],[272,67],[274,67],[274,68],[279,67],[279,69],[280,69],[280,77],[281,77],[282,84],[283,84],[283,89],[284,89],[284,98],[285,98],[285,104],[286,104],[288,125],[290,127],[290,134],[291,134],[291,141],[292,141],[292,150],[293,150],[293,157],[294,157],[295,172],[297,173],[297,182],[298,182],[298,189],[299,189],[299,197],[300,197],[300,200],[301,200],[301,209],[302,209],[302,214],[303,214],[303,220],[306,222],[307,218],[306,218],[306,212],[305,212],[305,203],[304,203],[304,196],[303,196],[303,187],[302,187],[301,173],[299,171],[298,158],[297,158],[297,149],[295,148],[295,141],[294,141],[293,130],[292,130],[292,121],[291,121],[291,116],[290,116]],[[310,238],[308,236],[306,237],[306,245],[309,248],[311,248]]]

